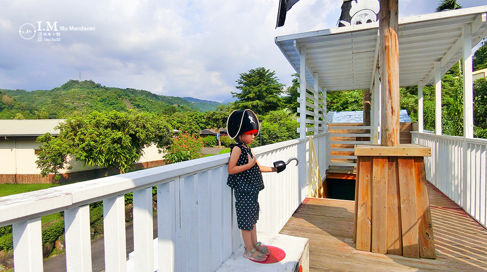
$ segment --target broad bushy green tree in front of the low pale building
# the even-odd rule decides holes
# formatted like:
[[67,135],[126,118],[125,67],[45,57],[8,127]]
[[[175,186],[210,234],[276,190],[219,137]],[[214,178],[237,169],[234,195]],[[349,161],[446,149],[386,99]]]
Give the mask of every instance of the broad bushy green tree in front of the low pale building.
[[144,147],[155,143],[158,148],[167,148],[172,139],[166,121],[154,114],[134,111],[77,115],[57,128],[57,137],[37,138],[43,144],[36,161],[42,175],[57,174],[68,154],[85,165],[115,167],[123,173],[140,159]]

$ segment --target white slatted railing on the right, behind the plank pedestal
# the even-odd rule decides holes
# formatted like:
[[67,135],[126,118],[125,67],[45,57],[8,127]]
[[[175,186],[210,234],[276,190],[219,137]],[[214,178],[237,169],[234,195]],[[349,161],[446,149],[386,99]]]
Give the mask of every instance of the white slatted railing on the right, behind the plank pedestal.
[[427,179],[487,226],[487,140],[412,132],[412,143],[431,147]]

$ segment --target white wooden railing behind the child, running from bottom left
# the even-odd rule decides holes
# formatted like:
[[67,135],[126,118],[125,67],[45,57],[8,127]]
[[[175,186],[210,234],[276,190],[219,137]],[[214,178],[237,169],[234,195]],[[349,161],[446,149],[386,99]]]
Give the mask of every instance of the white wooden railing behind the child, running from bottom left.
[[[326,138],[326,137],[324,137]],[[264,173],[257,229],[278,233],[307,194],[306,140],[255,148],[261,165],[296,156],[300,165]],[[103,200],[105,271],[126,271],[124,194],[133,192],[136,271],[153,267],[152,193],[157,186],[159,271],[215,271],[242,244],[229,154],[0,198],[0,226],[13,224],[16,272],[42,272],[43,215],[64,211],[67,270],[92,270],[89,204]],[[157,267],[156,267],[157,268]]]

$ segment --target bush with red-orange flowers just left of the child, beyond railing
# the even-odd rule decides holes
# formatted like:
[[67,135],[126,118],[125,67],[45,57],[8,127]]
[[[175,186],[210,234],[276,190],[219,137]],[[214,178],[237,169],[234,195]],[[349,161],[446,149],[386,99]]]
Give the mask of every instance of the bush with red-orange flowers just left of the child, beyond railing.
[[200,157],[200,152],[203,147],[203,141],[197,136],[187,133],[181,134],[173,139],[164,158],[169,163],[196,159]]

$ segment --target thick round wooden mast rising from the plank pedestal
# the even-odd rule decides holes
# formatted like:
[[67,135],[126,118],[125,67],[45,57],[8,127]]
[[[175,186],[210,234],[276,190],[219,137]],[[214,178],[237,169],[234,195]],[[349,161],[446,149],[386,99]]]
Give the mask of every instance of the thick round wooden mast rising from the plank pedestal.
[[382,85],[381,145],[399,145],[398,0],[380,0],[379,67]]

